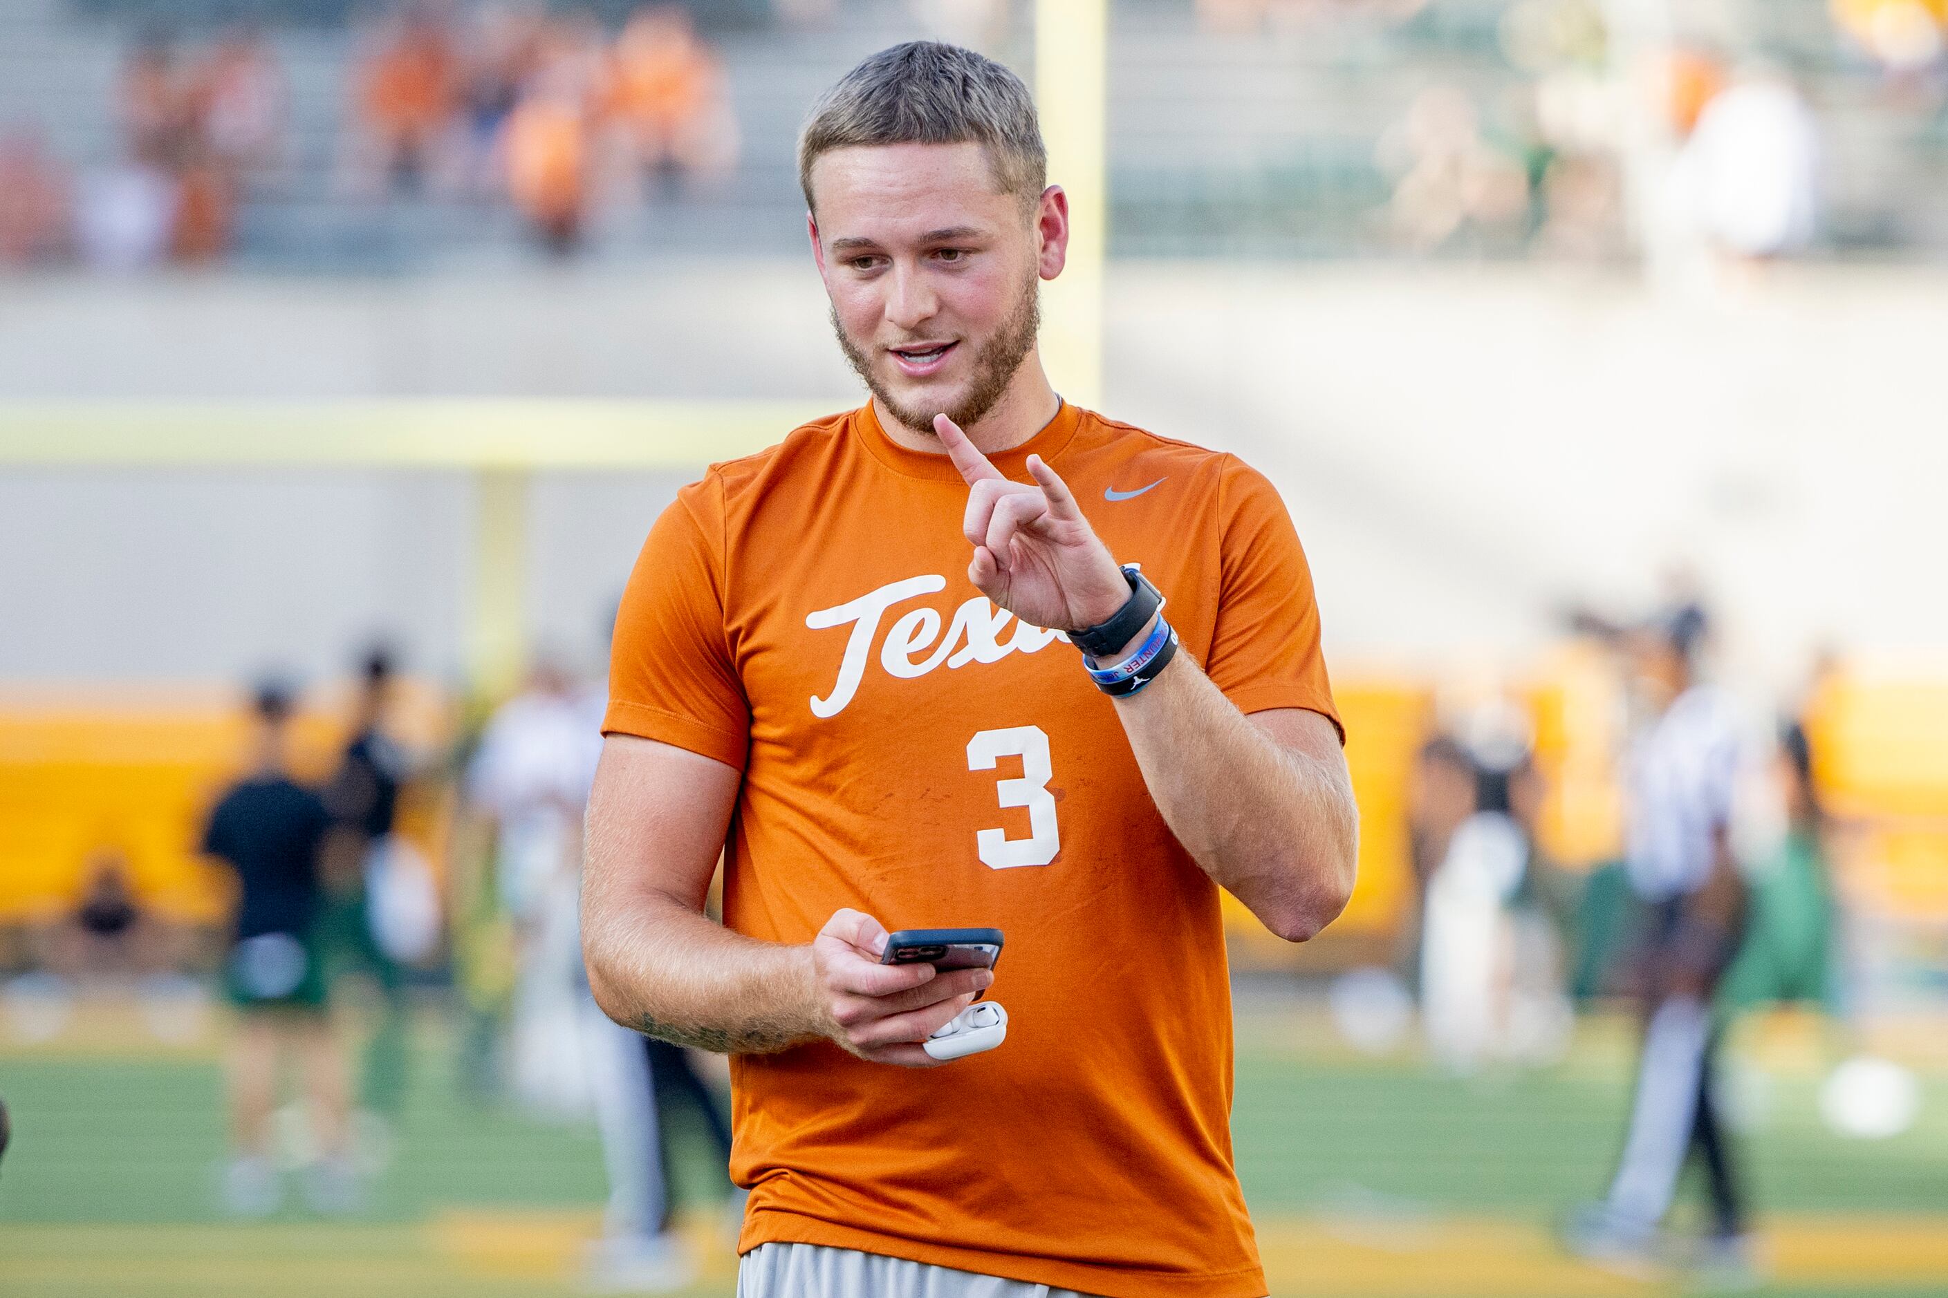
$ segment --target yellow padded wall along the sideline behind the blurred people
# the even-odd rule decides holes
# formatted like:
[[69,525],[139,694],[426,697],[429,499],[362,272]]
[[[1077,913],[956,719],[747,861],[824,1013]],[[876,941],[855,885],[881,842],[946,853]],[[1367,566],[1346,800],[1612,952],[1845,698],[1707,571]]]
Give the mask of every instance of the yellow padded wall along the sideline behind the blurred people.
[[[1615,850],[1619,798],[1615,681],[1574,652],[1551,658],[1525,697],[1549,784],[1545,848],[1578,864]],[[1336,934],[1383,938],[1414,905],[1406,802],[1432,724],[1420,679],[1346,677],[1336,687],[1360,800],[1360,883]],[[300,769],[321,776],[343,741],[343,687],[300,714]],[[1892,915],[1948,920],[1948,681],[1833,675],[1810,708],[1821,786],[1860,827],[1849,862],[1866,899]],[[421,751],[452,736],[452,704],[409,687],[399,720]],[[158,911],[218,920],[228,882],[195,852],[210,802],[244,763],[247,722],[234,691],[0,693],[0,920],[72,905],[97,852],[127,858]],[[438,868],[444,819],[421,806],[409,831]],[[1233,940],[1266,957],[1284,944],[1225,897]]]

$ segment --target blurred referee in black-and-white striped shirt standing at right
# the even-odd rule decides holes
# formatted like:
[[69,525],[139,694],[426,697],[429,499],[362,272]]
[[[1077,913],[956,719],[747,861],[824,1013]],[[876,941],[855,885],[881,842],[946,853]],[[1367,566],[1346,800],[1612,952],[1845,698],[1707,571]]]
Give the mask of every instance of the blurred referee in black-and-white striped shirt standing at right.
[[1640,718],[1625,776],[1625,866],[1646,911],[1644,1053],[1609,1197],[1574,1218],[1568,1242],[1588,1257],[1662,1261],[1662,1222],[1695,1152],[1712,1207],[1703,1261],[1730,1279],[1749,1277],[1753,1259],[1718,1113],[1712,996],[1745,926],[1732,852],[1743,741],[1730,699],[1699,677],[1703,638],[1703,611],[1685,605],[1627,640]]

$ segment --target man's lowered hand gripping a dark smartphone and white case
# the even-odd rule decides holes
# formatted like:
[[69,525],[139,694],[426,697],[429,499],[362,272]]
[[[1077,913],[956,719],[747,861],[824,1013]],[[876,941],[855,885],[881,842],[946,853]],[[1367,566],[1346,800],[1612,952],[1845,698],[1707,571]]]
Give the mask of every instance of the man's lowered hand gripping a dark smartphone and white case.
[[993,983],[988,969],[882,965],[886,928],[871,915],[836,911],[812,938],[824,1035],[859,1059],[937,1068],[921,1041]]

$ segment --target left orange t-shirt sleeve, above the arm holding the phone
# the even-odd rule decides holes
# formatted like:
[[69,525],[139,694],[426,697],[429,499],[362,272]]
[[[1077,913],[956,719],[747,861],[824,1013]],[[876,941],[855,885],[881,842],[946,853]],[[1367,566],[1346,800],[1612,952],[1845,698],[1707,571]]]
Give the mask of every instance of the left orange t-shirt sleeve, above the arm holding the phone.
[[629,574],[610,650],[602,734],[744,767],[750,704],[725,634],[723,485],[676,494]]

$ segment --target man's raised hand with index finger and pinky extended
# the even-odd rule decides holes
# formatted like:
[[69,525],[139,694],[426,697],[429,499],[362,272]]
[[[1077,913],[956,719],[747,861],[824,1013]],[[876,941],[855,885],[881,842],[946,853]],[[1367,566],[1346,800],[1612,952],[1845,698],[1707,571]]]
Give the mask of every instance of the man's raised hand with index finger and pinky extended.
[[1054,631],[1095,627],[1130,597],[1116,560],[1083,518],[1068,483],[1029,455],[1034,483],[1011,483],[945,415],[933,430],[968,485],[962,531],[968,580],[1021,621]]

